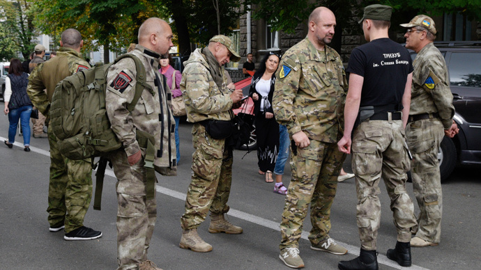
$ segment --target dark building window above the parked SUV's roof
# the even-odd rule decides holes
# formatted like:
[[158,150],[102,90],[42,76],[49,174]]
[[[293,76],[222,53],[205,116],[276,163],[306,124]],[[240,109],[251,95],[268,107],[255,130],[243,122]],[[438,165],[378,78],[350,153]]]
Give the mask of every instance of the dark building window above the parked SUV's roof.
[[444,41],[471,40],[472,23],[466,14],[445,14],[443,29]]

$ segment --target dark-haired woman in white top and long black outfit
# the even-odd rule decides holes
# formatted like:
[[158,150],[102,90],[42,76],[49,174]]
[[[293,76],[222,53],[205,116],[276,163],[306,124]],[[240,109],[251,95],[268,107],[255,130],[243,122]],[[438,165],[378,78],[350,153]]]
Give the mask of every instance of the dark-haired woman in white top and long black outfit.
[[257,135],[257,157],[259,170],[266,175],[266,182],[272,183],[275,160],[279,150],[279,124],[275,121],[272,107],[275,71],[280,56],[270,52],[264,56],[259,70],[254,73],[250,85],[250,96],[254,100],[254,114]]

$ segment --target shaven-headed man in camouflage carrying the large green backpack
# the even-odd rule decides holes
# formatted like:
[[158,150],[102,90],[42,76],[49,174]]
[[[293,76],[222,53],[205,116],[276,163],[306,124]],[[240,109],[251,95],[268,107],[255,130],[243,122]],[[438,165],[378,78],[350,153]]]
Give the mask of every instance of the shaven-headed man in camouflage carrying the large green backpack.
[[[159,60],[172,45],[169,24],[149,18],[139,28],[139,44],[129,54],[144,65],[146,82],[132,112],[127,106],[135,95],[137,71],[132,58],[123,58],[109,67],[105,104],[112,130],[123,148],[110,159],[117,177],[117,260],[119,270],[159,269],[147,259],[148,246],[157,219],[155,175],[149,179],[146,159],[148,143],[142,132],[153,136],[153,166],[162,175],[176,175],[174,116],[171,113],[171,91],[159,73]],[[136,136],[138,138],[136,138]],[[149,164],[147,164],[149,165]],[[149,192],[151,192],[149,197]],[[152,194],[153,193],[153,194]]]

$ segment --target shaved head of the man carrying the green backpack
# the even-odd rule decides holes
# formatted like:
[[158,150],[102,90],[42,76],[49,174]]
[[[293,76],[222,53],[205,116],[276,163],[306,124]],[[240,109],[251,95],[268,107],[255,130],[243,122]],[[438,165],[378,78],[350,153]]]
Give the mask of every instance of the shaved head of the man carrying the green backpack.
[[148,18],[139,28],[139,45],[158,54],[167,54],[172,44],[172,30],[163,19]]

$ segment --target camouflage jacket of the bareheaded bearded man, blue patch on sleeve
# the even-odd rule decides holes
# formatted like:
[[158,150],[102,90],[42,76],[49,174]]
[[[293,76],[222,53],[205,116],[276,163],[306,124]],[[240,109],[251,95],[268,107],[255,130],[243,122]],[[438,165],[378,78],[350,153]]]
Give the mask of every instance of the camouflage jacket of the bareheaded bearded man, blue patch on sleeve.
[[[346,72],[341,57],[326,45],[318,51],[308,38],[286,51],[275,76],[275,119],[292,136],[335,143],[342,136]],[[325,53],[325,54],[324,54]]]

